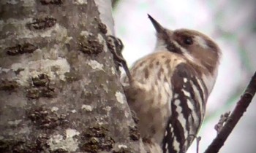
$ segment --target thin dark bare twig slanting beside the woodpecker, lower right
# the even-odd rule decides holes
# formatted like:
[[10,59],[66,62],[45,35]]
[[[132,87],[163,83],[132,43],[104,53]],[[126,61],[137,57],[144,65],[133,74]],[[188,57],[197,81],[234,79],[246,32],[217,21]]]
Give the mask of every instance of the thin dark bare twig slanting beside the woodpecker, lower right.
[[253,96],[256,92],[256,71],[255,74],[252,76],[249,85],[246,87],[244,94],[241,96],[240,100],[236,104],[236,108],[228,117],[227,122],[222,127],[222,130],[219,131],[217,137],[214,138],[214,141],[211,142],[210,146],[206,149],[205,153],[217,153],[219,149],[224,145],[227,137],[232,132],[233,128],[238,123],[239,119],[243,116],[244,112],[246,111],[249,103],[251,103]]

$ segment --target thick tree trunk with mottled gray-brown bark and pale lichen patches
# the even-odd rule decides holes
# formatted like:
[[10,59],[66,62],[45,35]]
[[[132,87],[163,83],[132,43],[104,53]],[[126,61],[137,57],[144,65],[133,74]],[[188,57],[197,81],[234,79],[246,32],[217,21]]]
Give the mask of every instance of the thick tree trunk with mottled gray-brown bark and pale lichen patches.
[[0,1],[0,152],[144,152],[99,7]]

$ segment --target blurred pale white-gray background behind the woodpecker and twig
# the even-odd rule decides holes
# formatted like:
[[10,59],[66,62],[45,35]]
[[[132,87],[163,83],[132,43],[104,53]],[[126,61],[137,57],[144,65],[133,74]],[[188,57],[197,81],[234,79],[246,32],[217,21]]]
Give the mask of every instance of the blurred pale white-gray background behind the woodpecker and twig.
[[[214,125],[221,114],[232,111],[256,70],[255,0],[119,0],[114,1],[116,36],[124,43],[129,66],[153,52],[154,27],[147,14],[170,29],[191,28],[211,36],[222,49],[219,76],[198,136],[200,152],[216,136]],[[227,139],[221,153],[256,152],[256,98]],[[188,153],[196,152],[196,143]]]

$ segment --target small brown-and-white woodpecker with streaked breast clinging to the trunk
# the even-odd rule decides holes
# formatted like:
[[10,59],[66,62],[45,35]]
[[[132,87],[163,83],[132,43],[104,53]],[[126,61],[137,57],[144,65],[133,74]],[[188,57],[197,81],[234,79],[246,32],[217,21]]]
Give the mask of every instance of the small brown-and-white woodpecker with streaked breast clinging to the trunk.
[[172,31],[148,18],[157,44],[121,77],[124,93],[147,152],[187,152],[202,125],[221,51],[205,34]]

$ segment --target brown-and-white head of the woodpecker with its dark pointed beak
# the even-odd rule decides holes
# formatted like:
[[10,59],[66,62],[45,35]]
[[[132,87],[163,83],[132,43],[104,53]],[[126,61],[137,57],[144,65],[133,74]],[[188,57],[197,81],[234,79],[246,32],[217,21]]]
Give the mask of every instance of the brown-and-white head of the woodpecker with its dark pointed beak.
[[189,29],[169,30],[148,15],[157,31],[156,50],[167,50],[213,74],[219,65],[218,45],[205,34]]

